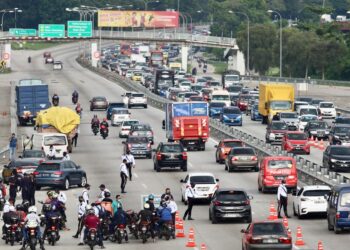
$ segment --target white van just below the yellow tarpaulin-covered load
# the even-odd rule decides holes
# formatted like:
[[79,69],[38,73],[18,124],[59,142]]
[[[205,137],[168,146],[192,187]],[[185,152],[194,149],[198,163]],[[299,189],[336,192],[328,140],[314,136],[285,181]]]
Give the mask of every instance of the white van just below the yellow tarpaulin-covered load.
[[37,133],[32,135],[34,150],[43,150],[49,154],[50,146],[53,145],[57,158],[63,158],[63,152],[68,152],[68,139],[61,133]]

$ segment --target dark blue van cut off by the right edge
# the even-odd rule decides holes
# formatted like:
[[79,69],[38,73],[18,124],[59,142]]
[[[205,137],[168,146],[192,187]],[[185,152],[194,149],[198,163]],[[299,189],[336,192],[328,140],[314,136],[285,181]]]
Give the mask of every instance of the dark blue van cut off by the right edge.
[[325,198],[328,202],[328,230],[339,234],[343,229],[350,228],[350,184],[333,186]]

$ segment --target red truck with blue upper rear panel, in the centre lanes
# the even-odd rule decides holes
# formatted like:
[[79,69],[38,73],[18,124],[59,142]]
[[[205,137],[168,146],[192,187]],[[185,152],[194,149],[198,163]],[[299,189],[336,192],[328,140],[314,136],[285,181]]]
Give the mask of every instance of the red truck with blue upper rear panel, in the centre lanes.
[[187,149],[204,151],[210,137],[208,103],[167,103],[163,128],[169,142],[180,142]]

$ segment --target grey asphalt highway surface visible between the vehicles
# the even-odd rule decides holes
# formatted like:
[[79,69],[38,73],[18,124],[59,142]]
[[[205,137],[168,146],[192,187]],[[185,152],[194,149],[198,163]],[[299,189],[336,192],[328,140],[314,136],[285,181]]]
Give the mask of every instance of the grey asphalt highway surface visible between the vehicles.
[[[13,52],[13,69],[15,73],[6,77],[8,80],[18,81],[21,78],[41,78],[50,86],[50,93],[57,93],[61,105],[73,108],[71,103],[71,93],[74,89],[79,92],[79,102],[83,107],[83,119],[80,126],[80,135],[78,147],[74,149],[71,158],[87,171],[88,182],[92,185],[90,197],[93,200],[97,197],[98,186],[101,183],[106,184],[107,188],[112,191],[114,197],[120,192],[119,164],[122,153],[122,139],[118,138],[118,128],[112,128],[107,140],[102,140],[100,136],[93,136],[90,129],[90,119],[93,114],[100,118],[104,117],[104,111],[89,111],[89,99],[93,96],[106,96],[108,100],[120,100],[123,89],[117,84],[105,80],[79,66],[75,62],[78,52],[78,44],[68,44],[54,49],[50,49],[55,60],[61,60],[64,63],[62,71],[52,71],[51,65],[45,65],[42,58],[43,51]],[[32,63],[27,63],[27,56],[32,56]],[[143,122],[150,123],[155,132],[155,146],[158,142],[165,140],[164,131],[161,129],[161,120],[163,112],[149,106],[148,109],[132,109],[132,117]],[[248,117],[244,117],[242,130],[250,132],[255,136],[264,137],[265,129],[258,122],[251,122]],[[31,127],[19,128],[19,134],[31,134]],[[244,188],[248,194],[253,195],[252,208],[254,211],[253,220],[265,220],[268,216],[269,204],[276,199],[275,194],[261,194],[257,190],[257,173],[237,172],[228,173],[224,171],[224,166],[215,163],[215,148],[217,142],[211,139],[206,147],[205,152],[189,152],[189,171],[195,172],[212,172],[216,178],[220,179],[221,187]],[[312,160],[319,162],[321,152],[312,152]],[[128,182],[126,186],[127,194],[123,195],[123,205],[125,208],[139,210],[141,206],[140,195],[142,194],[161,194],[166,187],[170,187],[177,204],[179,205],[180,214],[185,211],[185,206],[181,203],[180,179],[185,177],[185,173],[179,171],[156,173],[153,171],[151,160],[137,159],[135,169],[135,179]],[[75,233],[77,225],[77,196],[81,193],[81,188],[72,188],[66,191],[68,196],[68,227],[71,231],[61,232],[62,238],[55,246],[55,249],[64,249],[66,247],[76,246],[78,241],[71,236]],[[38,192],[38,199],[43,199],[44,191]],[[291,206],[289,206],[291,208]],[[290,209],[289,214],[292,215]],[[208,219],[208,206],[197,205],[193,209],[194,221],[185,221],[185,232],[188,233],[190,227],[195,230],[196,242],[205,243],[208,249],[241,249],[240,229],[245,228],[246,224],[241,222],[220,223],[212,225]],[[305,242],[308,249],[316,249],[317,242],[322,240],[324,249],[348,249],[348,233],[335,235],[327,230],[325,219],[304,219],[298,220],[293,217],[289,220],[290,227],[295,240],[296,227],[302,226]],[[144,249],[185,249],[186,239],[176,239],[170,241],[159,240],[156,243],[147,243],[142,246]],[[11,249],[0,243],[1,249]],[[105,244],[107,249],[115,247],[113,243]],[[123,244],[123,249],[136,249],[142,243],[134,239],[130,243]],[[51,249],[53,247],[47,247]],[[87,246],[80,247],[87,249]],[[297,249],[297,248],[296,248]]]

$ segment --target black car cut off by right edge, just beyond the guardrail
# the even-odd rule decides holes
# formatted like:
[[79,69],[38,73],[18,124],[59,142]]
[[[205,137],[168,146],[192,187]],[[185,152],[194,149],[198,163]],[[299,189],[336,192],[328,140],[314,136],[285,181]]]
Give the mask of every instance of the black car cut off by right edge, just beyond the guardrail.
[[323,152],[323,166],[331,171],[350,170],[350,147],[331,145]]

